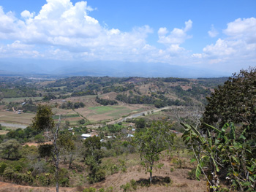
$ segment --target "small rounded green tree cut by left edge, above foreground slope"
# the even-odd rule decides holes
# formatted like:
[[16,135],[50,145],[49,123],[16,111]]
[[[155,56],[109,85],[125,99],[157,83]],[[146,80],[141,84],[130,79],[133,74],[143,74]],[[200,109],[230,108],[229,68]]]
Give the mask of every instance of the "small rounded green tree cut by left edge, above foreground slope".
[[0,144],[0,153],[6,155],[7,158],[18,158],[20,143],[16,139],[7,140]]

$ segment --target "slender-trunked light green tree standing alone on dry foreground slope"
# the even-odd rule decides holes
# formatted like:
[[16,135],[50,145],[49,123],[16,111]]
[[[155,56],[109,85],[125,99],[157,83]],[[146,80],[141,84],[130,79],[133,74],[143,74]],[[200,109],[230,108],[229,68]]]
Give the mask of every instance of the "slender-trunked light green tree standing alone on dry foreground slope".
[[137,131],[135,133],[135,143],[138,145],[140,157],[150,174],[150,183],[152,182],[152,172],[154,164],[159,161],[159,155],[173,145],[175,135],[170,131],[172,126],[160,121],[152,123],[146,131]]

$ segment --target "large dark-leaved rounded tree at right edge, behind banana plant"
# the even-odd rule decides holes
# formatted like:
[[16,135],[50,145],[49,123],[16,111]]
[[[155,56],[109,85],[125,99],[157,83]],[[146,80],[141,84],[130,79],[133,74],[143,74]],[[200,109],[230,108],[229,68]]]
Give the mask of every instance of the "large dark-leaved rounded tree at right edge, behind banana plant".
[[[256,138],[256,68],[233,74],[224,85],[219,86],[207,98],[208,104],[202,122],[222,128],[227,122],[250,126]],[[208,129],[202,127],[203,131]],[[210,128],[211,129],[211,128]]]

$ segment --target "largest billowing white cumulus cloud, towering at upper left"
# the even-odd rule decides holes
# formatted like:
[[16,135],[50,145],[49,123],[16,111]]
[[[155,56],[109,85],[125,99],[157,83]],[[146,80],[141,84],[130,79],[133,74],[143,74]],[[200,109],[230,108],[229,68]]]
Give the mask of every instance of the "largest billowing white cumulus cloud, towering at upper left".
[[131,55],[140,55],[141,51],[145,53],[143,48],[152,28],[141,26],[129,32],[108,29],[89,16],[93,10],[86,1],[72,4],[70,0],[47,0],[37,15],[24,10],[20,14],[24,20],[19,20],[0,7],[0,38],[35,45],[45,52],[42,54],[45,57],[52,51],[50,46],[59,50],[56,53],[68,51],[71,58],[73,55],[73,58],[122,59],[121,55],[132,58]]

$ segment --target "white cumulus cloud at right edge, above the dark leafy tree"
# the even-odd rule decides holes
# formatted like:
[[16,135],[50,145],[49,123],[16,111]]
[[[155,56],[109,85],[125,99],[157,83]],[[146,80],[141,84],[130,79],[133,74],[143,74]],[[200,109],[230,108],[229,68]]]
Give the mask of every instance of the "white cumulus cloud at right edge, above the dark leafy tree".
[[238,18],[227,23],[223,34],[226,37],[217,39],[217,42],[211,45],[206,45],[203,53],[192,54],[192,58],[201,59],[217,68],[255,66],[256,18]]

